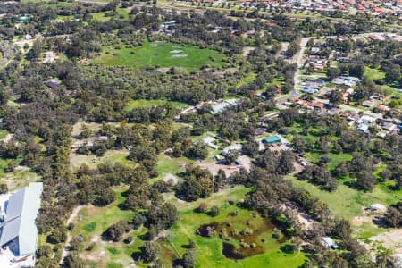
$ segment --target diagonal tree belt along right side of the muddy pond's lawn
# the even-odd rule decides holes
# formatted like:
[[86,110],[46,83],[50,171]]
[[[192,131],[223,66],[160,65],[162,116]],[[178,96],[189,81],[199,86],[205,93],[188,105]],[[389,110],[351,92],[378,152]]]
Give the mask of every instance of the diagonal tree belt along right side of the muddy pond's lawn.
[[[349,222],[334,219],[328,205],[310,193],[294,188],[289,180],[284,180],[280,175],[258,167],[250,172],[245,170],[234,172],[229,180],[247,187],[254,187],[244,200],[246,207],[270,215],[289,236],[311,241],[314,247],[308,248],[310,257],[306,261],[306,267],[323,264],[334,267],[337,265],[376,267],[376,264],[371,263],[370,258],[367,257],[365,248],[352,238]],[[306,213],[312,215],[318,221],[314,228],[308,231],[301,230],[296,215],[281,205],[284,201],[294,202]],[[322,246],[322,236],[340,239],[342,254],[326,250]]]

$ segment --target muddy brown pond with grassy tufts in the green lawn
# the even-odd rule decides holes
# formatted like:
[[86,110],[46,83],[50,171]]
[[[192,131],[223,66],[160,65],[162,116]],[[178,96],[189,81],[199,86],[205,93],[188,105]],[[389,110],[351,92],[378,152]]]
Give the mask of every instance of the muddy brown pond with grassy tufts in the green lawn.
[[[253,228],[253,220],[250,219],[244,223],[244,230],[236,230],[230,222],[211,222],[199,227],[197,234],[209,238],[212,236],[219,236],[223,240],[222,254],[227,258],[239,260],[246,257],[258,254],[264,254],[264,247],[261,241],[258,241],[258,236],[263,232],[270,232],[275,229],[275,225],[266,218],[264,220],[264,227],[260,229]],[[247,230],[252,230],[247,232]],[[236,239],[239,241],[240,247],[235,247],[233,244],[227,242],[229,239]],[[278,243],[283,243],[287,238],[278,239]]]

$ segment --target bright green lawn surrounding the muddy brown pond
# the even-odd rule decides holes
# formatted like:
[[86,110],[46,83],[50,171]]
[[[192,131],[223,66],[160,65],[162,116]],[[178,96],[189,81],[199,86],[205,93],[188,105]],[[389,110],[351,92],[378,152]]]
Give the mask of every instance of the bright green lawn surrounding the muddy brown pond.
[[[200,199],[196,202],[179,202],[177,206],[180,211],[180,220],[172,227],[170,239],[163,243],[163,260],[169,265],[172,259],[179,258],[185,252],[188,245],[188,239],[194,239],[196,242],[197,264],[196,267],[298,267],[303,264],[306,256],[303,253],[284,254],[281,252],[280,244],[272,238],[272,230],[265,225],[261,216],[250,217],[251,211],[239,208],[237,205],[229,205],[228,200],[239,202],[242,200],[249,189],[244,187],[235,187],[225,189],[212,197]],[[172,200],[173,201],[173,200]],[[197,206],[205,202],[208,207],[218,205],[221,214],[211,217],[207,214],[194,212]],[[238,216],[231,216],[235,211]],[[247,225],[245,222],[250,221]],[[217,236],[212,238],[201,237],[196,234],[196,230],[202,224],[211,222],[231,222],[237,230],[250,227],[252,230],[262,230],[256,235],[256,244],[264,248],[263,254],[253,255],[240,260],[231,260],[222,255],[222,239]],[[265,242],[262,242],[265,239]],[[239,241],[230,239],[233,245],[239,245]],[[286,243],[289,243],[286,242]],[[285,243],[285,244],[286,244]]]

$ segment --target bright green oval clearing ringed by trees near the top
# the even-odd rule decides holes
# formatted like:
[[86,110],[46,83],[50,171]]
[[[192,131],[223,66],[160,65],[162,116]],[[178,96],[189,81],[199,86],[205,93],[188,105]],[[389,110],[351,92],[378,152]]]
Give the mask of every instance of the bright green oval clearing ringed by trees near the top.
[[224,55],[211,49],[163,42],[147,42],[134,48],[114,49],[105,47],[94,62],[108,66],[126,65],[133,68],[145,66],[183,67],[198,70],[201,66],[222,67]]

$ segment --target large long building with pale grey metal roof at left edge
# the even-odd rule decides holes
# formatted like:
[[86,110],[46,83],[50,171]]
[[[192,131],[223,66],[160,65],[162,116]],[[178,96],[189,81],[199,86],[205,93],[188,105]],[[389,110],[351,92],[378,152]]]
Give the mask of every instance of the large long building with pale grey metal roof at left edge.
[[[29,183],[11,194],[2,204],[3,221],[0,222],[0,246],[9,249],[15,259],[31,255],[34,259],[38,242],[35,222],[42,195],[42,182]],[[13,260],[16,261],[16,260]]]

